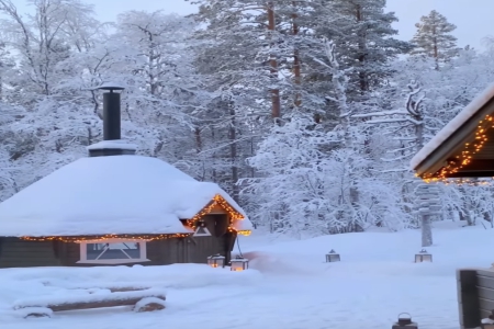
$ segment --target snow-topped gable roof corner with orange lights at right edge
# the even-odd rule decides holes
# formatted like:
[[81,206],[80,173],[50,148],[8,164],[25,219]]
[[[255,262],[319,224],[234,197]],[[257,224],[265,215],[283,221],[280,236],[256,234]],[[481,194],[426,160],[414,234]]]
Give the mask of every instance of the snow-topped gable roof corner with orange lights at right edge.
[[426,181],[494,177],[494,84],[430,139],[411,167]]

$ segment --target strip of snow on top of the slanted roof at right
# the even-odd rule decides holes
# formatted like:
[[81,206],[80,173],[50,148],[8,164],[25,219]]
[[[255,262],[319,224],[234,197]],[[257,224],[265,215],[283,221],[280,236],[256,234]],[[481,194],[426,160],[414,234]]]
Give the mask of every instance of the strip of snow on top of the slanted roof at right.
[[494,98],[494,83],[490,84],[483,92],[476,95],[453,120],[451,120],[433,139],[429,140],[409,161],[414,170],[433,151],[435,151],[446,139],[448,139],[460,126]]

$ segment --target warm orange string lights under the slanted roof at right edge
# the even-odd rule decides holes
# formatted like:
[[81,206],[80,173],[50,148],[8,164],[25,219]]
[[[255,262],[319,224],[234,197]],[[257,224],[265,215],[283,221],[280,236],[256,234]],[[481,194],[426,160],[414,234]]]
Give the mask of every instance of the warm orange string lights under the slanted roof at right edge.
[[[472,156],[480,152],[482,148],[485,146],[485,143],[487,141],[487,132],[489,129],[494,127],[493,123],[493,116],[486,115],[484,120],[479,122],[479,126],[475,131],[475,138],[471,143],[465,143],[464,148],[461,151],[460,155],[456,156],[454,159],[449,160],[448,163],[442,167],[437,175],[434,173],[428,173],[426,175],[422,175],[420,178],[426,182],[437,182],[442,181],[447,184],[489,184],[487,182],[471,182],[470,180],[457,180],[457,179],[450,179],[448,175],[451,175],[453,173],[457,173],[460,169],[464,168],[465,166],[470,164],[472,161]],[[435,177],[433,177],[435,175]]]

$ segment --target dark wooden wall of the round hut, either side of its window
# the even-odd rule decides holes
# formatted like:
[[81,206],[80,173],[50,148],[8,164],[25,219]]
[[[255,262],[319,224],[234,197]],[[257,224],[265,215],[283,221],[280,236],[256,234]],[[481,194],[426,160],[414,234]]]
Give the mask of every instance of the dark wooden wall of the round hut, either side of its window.
[[[146,243],[149,261],[137,264],[206,263],[207,257],[215,253],[225,256],[226,261],[229,261],[236,236],[227,232],[227,216],[209,215],[204,217],[204,222],[212,236],[149,241]],[[77,263],[79,260],[80,246],[76,242],[0,238],[0,268],[106,265]]]

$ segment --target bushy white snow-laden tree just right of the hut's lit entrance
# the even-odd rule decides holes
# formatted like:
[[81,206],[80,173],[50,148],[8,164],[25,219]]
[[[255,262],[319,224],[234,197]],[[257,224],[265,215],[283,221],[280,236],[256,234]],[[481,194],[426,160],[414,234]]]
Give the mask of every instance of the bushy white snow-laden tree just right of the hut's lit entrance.
[[260,174],[247,189],[257,196],[256,219],[299,237],[374,225],[398,229],[408,217],[396,202],[396,185],[367,175],[366,135],[351,125],[346,90],[350,69],[340,68],[333,42],[325,41],[323,54],[325,58],[313,60],[333,77],[327,99],[339,109],[338,124],[327,131],[302,103],[300,111],[284,116],[284,125],[271,129],[248,159]]

